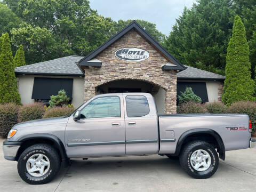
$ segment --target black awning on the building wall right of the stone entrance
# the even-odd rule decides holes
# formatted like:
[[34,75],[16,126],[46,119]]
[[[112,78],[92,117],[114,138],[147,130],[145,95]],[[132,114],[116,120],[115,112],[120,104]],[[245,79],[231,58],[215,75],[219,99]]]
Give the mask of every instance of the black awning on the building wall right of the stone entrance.
[[202,102],[209,101],[205,82],[177,82],[177,95],[180,95],[181,91],[184,92],[186,87],[191,87],[193,92],[202,99]]

